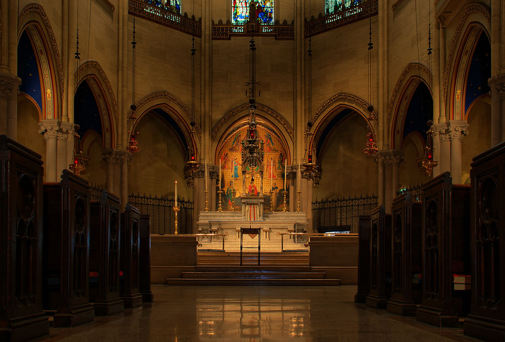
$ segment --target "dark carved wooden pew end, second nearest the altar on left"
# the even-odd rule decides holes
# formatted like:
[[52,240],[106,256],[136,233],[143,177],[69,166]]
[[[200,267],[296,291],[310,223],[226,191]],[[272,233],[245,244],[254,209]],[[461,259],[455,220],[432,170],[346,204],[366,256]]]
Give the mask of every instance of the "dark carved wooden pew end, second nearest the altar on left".
[[119,291],[125,308],[142,305],[139,293],[139,247],[140,211],[126,203],[121,213],[121,248],[119,269],[123,273],[119,281]]

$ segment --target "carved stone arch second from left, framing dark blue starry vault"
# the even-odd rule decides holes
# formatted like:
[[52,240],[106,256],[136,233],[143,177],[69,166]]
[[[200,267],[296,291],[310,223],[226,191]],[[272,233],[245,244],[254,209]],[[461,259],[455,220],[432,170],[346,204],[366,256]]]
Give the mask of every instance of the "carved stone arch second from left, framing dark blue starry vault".
[[107,75],[97,62],[86,62],[79,67],[75,78],[76,91],[82,82],[87,82],[93,92],[102,119],[103,147],[114,148],[119,120],[118,105]]

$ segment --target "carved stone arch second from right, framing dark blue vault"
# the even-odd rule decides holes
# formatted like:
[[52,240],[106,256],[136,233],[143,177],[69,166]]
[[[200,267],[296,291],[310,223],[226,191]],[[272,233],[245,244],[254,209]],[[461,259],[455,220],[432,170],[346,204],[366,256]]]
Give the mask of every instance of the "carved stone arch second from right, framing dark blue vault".
[[433,98],[433,93],[430,87],[432,80],[433,76],[429,72],[428,68],[419,63],[409,64],[401,73],[398,81],[396,82],[396,86],[393,89],[388,105],[387,122],[389,125],[391,148],[401,148],[405,115],[407,109],[409,108],[412,95],[416,91],[417,87],[421,83],[424,83]]

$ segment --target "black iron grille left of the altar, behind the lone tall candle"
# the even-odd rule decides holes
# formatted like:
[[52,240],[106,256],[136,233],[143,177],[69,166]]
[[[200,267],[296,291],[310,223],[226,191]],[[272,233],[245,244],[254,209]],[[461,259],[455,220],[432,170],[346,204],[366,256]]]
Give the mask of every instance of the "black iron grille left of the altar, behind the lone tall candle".
[[[131,194],[128,202],[137,207],[142,214],[149,214],[151,219],[151,234],[174,234],[175,212],[174,198]],[[192,234],[193,201],[177,199],[177,228],[179,234]]]

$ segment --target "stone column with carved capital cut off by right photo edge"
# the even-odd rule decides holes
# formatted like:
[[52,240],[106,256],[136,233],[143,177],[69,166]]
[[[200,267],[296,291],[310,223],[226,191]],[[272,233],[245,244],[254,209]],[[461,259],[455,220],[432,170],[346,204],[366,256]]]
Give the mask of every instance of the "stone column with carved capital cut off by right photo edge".
[[491,88],[491,146],[505,141],[505,74],[488,80]]

